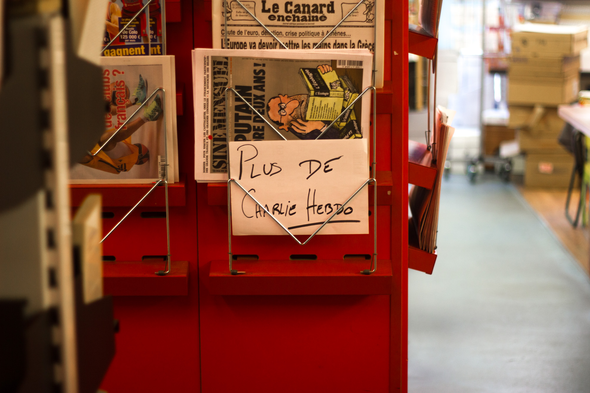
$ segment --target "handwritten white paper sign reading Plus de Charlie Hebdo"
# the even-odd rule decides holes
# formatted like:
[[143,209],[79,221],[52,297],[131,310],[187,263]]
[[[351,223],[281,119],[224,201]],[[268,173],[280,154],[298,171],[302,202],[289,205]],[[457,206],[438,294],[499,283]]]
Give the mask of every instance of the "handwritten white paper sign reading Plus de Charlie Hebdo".
[[[293,234],[369,233],[366,139],[230,142],[235,179]],[[231,184],[234,235],[286,235],[264,209]]]

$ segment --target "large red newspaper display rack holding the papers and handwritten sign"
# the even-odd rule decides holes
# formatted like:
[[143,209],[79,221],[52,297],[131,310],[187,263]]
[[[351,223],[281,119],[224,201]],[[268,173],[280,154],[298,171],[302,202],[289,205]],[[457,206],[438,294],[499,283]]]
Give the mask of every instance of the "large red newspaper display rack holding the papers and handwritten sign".
[[[234,237],[232,248],[242,254],[232,255],[232,268],[246,273],[230,274],[227,183],[191,180],[191,50],[212,46],[211,1],[182,0],[180,5],[182,20],[167,25],[167,52],[176,56],[176,79],[187,90],[184,114],[177,122],[186,204],[171,206],[169,212],[175,259],[188,261],[188,294],[114,297],[121,328],[102,388],[407,391],[407,3],[386,0],[385,9],[378,11],[385,13],[385,84],[373,103],[372,122],[378,126],[372,132],[379,143],[371,154],[381,171],[375,173],[376,185],[370,186],[379,215],[373,214],[375,195],[369,193],[369,227],[377,228],[379,264],[369,275],[360,271],[371,263],[367,250],[375,235],[372,229],[366,235],[314,237],[303,247],[289,236]],[[118,217],[128,208],[104,209]],[[148,217],[160,217],[159,210],[139,206],[129,215],[104,242],[104,254],[116,259],[105,266],[158,254],[163,216]],[[115,219],[105,219],[108,228],[107,220]],[[124,240],[112,240],[121,235]],[[154,281],[172,278],[172,273],[150,273]],[[153,344],[162,334],[172,340]],[[173,373],[163,373],[162,364]],[[367,364],[373,365],[371,373],[360,372]]]

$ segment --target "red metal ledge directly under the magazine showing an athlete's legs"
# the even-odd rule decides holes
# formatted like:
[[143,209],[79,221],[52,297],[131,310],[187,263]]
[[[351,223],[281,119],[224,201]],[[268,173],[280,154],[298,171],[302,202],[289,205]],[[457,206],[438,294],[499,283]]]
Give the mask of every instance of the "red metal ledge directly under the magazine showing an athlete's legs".
[[[186,205],[184,174],[181,181],[168,185],[168,205]],[[70,184],[71,206],[80,206],[86,195],[101,194],[103,207],[131,207],[152,188],[153,184]],[[166,206],[164,187],[158,186],[139,207]]]

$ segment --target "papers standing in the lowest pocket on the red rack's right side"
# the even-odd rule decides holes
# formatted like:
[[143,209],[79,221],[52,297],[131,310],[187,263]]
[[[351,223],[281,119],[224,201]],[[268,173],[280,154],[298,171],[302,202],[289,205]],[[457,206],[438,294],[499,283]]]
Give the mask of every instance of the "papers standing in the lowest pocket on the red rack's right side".
[[[437,176],[432,189],[412,186],[409,193],[409,207],[412,212],[412,221],[418,237],[418,244],[421,250],[428,253],[432,253],[437,244],[441,179],[444,163],[447,159],[448,146],[455,132],[455,129],[451,127],[454,115],[454,110],[448,110],[442,106],[437,107],[435,130],[431,140],[432,156],[437,159]],[[434,143],[435,141],[436,143]],[[409,235],[412,236],[413,234]]]

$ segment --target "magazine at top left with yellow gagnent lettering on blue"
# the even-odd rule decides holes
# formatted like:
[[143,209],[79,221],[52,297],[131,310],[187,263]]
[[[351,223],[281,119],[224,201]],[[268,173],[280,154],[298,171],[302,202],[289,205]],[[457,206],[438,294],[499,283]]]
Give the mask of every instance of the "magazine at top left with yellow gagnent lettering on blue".
[[[108,0],[104,22],[103,48],[113,41],[103,56],[162,55],[162,14],[164,1],[152,0],[149,6],[133,19],[149,0]],[[149,14],[149,30],[148,30]],[[117,33],[133,19],[127,28]],[[116,37],[116,38],[115,38]]]

